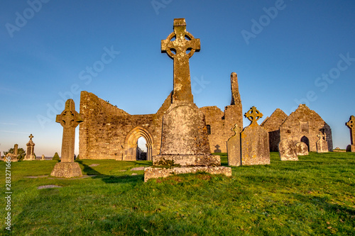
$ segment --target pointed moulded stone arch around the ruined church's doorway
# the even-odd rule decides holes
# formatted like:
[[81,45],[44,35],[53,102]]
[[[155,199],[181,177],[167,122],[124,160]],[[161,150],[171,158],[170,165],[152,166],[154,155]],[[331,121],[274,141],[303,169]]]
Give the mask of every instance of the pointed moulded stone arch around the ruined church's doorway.
[[147,144],[147,160],[152,160],[153,138],[151,133],[141,126],[133,128],[126,135],[124,140],[124,161],[136,161],[137,157],[137,141],[139,137],[144,137]]

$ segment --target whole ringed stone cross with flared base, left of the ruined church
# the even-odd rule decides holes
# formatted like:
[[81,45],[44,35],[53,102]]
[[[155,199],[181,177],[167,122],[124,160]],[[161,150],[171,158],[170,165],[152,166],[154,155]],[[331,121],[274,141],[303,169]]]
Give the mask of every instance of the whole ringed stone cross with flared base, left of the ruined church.
[[82,121],[82,115],[75,111],[74,101],[68,99],[64,111],[55,119],[55,122],[63,127],[62,156],[60,162],[55,164],[51,176],[65,178],[82,176],[82,169],[77,162],[74,162],[75,128]]

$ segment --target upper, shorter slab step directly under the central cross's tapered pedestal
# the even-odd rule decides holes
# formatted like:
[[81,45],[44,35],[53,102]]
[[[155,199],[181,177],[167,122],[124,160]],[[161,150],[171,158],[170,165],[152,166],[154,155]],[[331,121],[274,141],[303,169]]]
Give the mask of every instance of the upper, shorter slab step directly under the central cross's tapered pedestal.
[[221,157],[212,154],[171,154],[153,156],[154,166],[219,167]]

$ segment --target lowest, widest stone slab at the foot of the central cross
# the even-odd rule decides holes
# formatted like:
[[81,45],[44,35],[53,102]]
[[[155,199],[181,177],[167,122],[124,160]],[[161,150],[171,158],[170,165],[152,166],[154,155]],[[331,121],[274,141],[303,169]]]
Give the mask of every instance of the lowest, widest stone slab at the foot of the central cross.
[[174,174],[188,174],[197,172],[207,172],[209,174],[224,174],[231,176],[231,167],[174,167],[174,168],[159,168],[146,167],[144,169],[144,181],[148,179],[165,178]]

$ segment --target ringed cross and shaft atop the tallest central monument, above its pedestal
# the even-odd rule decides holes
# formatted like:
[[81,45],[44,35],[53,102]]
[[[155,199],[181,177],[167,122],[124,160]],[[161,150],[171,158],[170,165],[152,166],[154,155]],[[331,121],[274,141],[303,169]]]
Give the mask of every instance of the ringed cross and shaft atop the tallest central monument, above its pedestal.
[[[185,18],[174,19],[174,32],[161,40],[161,52],[174,60],[174,101],[193,103],[189,58],[200,51],[200,39],[186,31]],[[175,40],[173,40],[175,38]],[[190,52],[188,52],[190,51]]]

